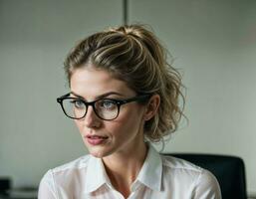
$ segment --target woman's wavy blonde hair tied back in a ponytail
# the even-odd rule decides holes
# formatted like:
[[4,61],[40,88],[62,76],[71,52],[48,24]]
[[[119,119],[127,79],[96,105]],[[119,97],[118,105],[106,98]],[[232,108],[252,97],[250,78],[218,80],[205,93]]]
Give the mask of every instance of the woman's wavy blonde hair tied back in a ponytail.
[[143,25],[126,25],[82,40],[64,64],[69,83],[74,70],[88,64],[125,81],[137,95],[159,95],[158,110],[144,125],[147,139],[157,142],[176,130],[184,104],[181,78],[167,63],[167,51],[152,31]]

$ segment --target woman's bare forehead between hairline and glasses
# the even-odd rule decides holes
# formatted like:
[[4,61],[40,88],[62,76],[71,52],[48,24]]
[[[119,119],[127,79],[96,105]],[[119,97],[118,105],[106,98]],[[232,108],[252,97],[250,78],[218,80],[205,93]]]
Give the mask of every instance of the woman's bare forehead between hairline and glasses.
[[70,85],[72,92],[87,100],[112,92],[124,97],[135,94],[126,82],[114,78],[110,72],[92,67],[76,69],[71,76]]

